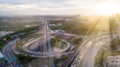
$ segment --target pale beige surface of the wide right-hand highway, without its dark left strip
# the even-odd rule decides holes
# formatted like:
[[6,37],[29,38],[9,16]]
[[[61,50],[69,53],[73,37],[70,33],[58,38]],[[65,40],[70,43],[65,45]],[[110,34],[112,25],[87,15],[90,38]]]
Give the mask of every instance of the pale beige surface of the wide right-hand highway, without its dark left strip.
[[104,44],[109,44],[117,36],[120,35],[107,33],[88,38],[79,48],[79,51],[76,52],[78,55],[71,64],[71,67],[94,67],[95,56],[100,47]]

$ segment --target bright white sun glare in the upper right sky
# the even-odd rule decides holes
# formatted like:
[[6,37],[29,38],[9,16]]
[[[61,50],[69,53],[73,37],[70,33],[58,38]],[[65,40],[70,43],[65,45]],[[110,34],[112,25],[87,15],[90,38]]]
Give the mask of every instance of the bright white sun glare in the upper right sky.
[[93,10],[98,15],[114,15],[120,13],[120,5],[115,2],[102,2],[96,5]]

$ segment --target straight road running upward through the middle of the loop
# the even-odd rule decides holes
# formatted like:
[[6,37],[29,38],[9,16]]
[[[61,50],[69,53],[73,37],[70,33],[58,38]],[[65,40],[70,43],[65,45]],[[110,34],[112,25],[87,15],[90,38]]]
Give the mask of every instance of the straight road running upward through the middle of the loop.
[[[43,53],[44,52],[52,52],[52,46],[51,46],[51,43],[50,43],[50,33],[49,33],[49,27],[48,27],[48,22],[47,21],[44,21],[44,42],[43,42]],[[54,64],[54,57],[49,57],[49,58],[42,58],[43,60],[43,65],[42,67],[45,67],[46,66],[46,63],[50,63],[50,67],[55,67],[55,64]],[[48,62],[48,60],[50,62]],[[47,64],[48,66],[48,64]]]

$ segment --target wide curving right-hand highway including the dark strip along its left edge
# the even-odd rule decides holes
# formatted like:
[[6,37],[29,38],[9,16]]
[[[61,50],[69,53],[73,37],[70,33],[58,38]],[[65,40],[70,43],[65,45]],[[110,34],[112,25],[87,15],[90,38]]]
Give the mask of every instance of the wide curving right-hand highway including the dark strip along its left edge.
[[94,67],[94,58],[99,48],[118,36],[120,37],[119,34],[112,32],[86,38],[62,64],[62,67]]

